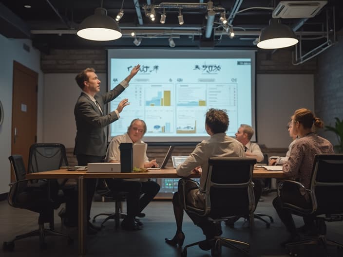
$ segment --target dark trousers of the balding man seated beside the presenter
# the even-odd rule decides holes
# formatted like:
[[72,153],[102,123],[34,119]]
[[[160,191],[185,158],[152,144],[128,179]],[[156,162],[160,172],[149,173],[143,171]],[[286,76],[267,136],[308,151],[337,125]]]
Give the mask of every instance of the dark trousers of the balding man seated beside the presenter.
[[140,182],[135,180],[106,179],[112,191],[127,192],[127,217],[132,219],[142,212],[160,190],[154,181]]

